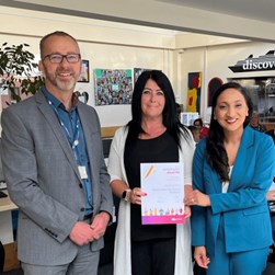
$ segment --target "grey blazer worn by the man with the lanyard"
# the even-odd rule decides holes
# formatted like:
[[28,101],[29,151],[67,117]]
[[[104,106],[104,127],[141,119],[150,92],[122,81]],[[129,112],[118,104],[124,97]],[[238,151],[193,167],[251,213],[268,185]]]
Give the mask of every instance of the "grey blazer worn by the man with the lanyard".
[[[94,215],[112,215],[99,117],[78,106],[92,172]],[[39,91],[2,112],[3,170],[12,200],[19,206],[19,259],[31,264],[69,263],[77,245],[68,238],[84,215],[84,191],[77,162],[56,114]],[[103,238],[91,250],[103,248]]]

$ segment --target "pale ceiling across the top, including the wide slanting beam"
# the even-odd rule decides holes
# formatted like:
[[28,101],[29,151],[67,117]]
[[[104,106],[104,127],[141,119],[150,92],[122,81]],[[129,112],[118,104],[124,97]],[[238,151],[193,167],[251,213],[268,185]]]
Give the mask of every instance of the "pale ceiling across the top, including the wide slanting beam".
[[275,42],[275,0],[0,0],[0,5]]

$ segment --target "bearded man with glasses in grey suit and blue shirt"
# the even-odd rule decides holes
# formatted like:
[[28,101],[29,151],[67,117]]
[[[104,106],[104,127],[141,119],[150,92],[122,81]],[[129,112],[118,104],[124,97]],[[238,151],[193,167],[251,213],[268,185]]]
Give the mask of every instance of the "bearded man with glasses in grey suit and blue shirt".
[[78,102],[77,41],[41,41],[45,85],[2,113],[3,171],[19,206],[18,255],[25,275],[95,275],[112,216],[99,117]]

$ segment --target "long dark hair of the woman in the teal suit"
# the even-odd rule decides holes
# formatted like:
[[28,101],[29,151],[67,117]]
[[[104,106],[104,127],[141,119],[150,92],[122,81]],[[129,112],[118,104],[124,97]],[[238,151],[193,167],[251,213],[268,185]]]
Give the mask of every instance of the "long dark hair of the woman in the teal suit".
[[210,127],[208,131],[208,137],[206,141],[206,158],[209,161],[211,168],[217,171],[217,173],[220,175],[221,181],[229,181],[229,164],[228,164],[228,156],[224,146],[224,129],[219,125],[219,123],[214,119],[214,113],[215,107],[217,105],[217,100],[219,95],[227,89],[236,89],[238,90],[244,98],[248,108],[249,108],[249,115],[247,116],[243,128],[245,128],[251,119],[252,113],[253,113],[253,103],[248,95],[247,90],[236,82],[228,82],[224,85],[221,85],[213,95],[211,99],[211,119],[210,119]]

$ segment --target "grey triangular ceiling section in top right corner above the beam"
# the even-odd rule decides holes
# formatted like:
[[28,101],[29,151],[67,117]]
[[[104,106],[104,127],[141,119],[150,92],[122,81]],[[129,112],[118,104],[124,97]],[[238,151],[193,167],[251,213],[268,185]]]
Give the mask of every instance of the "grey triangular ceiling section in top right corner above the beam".
[[[275,23],[275,0],[157,0],[170,4]],[[230,22],[228,22],[230,24]]]

